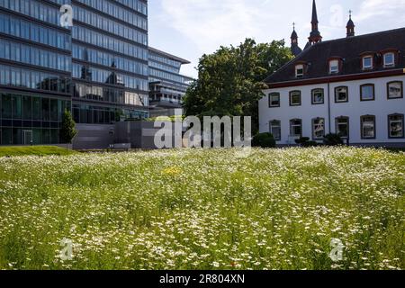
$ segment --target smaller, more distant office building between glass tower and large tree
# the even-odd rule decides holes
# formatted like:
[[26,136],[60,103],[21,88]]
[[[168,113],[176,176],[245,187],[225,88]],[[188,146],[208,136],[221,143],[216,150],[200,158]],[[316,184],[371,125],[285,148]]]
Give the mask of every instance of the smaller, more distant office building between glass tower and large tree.
[[149,47],[150,115],[172,116],[182,108],[183,96],[193,78],[180,74],[184,64],[190,64],[164,51]]

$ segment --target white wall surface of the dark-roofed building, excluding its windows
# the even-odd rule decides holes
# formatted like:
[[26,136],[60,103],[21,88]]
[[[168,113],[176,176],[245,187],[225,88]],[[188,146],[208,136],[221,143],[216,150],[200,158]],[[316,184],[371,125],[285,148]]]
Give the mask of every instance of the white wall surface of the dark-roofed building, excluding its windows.
[[[312,138],[312,119],[325,119],[325,133],[335,133],[335,119],[340,116],[349,117],[350,143],[361,145],[405,147],[405,139],[390,139],[388,133],[388,115],[394,113],[405,114],[405,98],[387,99],[387,83],[392,81],[405,82],[405,76],[392,76],[375,79],[348,81],[341,83],[304,85],[296,87],[275,88],[265,90],[266,97],[259,102],[259,130],[269,131],[270,121],[281,121],[282,140],[277,144],[291,144],[290,121],[302,119],[302,136]],[[375,101],[360,101],[360,85],[375,85]],[[348,103],[335,103],[335,87],[348,86]],[[320,105],[311,104],[311,90],[323,88],[325,91],[325,103]],[[289,93],[294,90],[302,91],[302,105],[291,107]],[[269,108],[268,94],[280,93],[281,107]],[[329,115],[330,104],[330,115]],[[360,117],[374,115],[376,117],[376,138],[361,139]],[[330,117],[329,117],[330,116]],[[330,122],[329,122],[330,119]]]

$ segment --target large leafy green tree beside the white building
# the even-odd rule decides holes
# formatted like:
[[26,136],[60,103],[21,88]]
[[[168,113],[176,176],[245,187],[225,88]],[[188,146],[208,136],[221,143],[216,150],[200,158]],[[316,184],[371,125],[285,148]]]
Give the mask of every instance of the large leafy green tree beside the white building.
[[257,44],[247,39],[238,47],[220,47],[202,55],[198,79],[184,96],[187,116],[252,116],[258,130],[258,101],[264,96],[263,80],[291,60],[284,40]]

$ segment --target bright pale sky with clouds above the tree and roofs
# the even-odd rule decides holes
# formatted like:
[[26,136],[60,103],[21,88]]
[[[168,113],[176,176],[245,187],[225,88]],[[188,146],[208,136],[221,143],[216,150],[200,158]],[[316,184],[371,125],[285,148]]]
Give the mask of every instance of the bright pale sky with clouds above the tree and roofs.
[[[356,35],[405,27],[405,0],[318,0],[324,40],[346,36],[348,11]],[[312,0],[151,0],[148,1],[149,45],[189,59],[182,73],[197,76],[194,67],[203,53],[220,45],[287,41],[293,22],[305,46],[311,31]],[[405,38],[405,36],[404,36]]]

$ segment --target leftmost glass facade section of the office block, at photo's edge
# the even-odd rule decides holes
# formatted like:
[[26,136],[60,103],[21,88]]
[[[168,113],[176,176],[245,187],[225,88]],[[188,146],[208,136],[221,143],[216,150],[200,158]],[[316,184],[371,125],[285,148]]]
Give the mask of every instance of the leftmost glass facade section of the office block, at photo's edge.
[[0,143],[58,143],[71,109],[71,31],[61,1],[0,1]]

